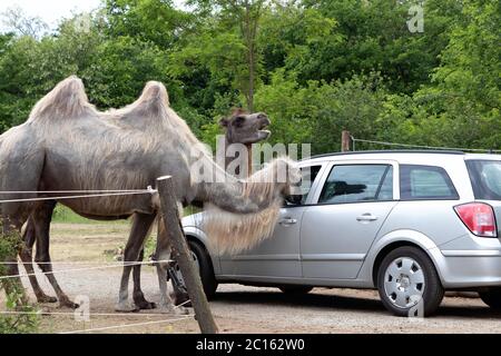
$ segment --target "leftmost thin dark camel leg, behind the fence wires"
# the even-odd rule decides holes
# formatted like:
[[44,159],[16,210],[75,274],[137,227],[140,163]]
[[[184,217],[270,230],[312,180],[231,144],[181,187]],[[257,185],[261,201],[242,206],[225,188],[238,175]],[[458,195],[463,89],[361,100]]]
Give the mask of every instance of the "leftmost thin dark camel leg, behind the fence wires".
[[33,268],[33,245],[35,245],[35,222],[32,221],[32,218],[30,217],[28,219],[27,227],[24,229],[22,240],[24,241],[24,246],[22,247],[21,251],[19,253],[19,257],[21,258],[21,261],[24,266],[24,269],[28,274],[28,278],[30,280],[31,287],[33,288],[35,296],[37,297],[38,303],[56,303],[58,299],[56,297],[50,297],[46,295],[38,284],[37,276],[35,275],[35,268]]

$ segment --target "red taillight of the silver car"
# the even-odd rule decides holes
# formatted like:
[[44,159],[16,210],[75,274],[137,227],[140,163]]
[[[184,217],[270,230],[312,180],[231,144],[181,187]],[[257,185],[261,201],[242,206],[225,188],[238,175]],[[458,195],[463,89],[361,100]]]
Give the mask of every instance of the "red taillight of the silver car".
[[480,237],[497,237],[494,210],[489,204],[468,202],[454,207],[461,221]]

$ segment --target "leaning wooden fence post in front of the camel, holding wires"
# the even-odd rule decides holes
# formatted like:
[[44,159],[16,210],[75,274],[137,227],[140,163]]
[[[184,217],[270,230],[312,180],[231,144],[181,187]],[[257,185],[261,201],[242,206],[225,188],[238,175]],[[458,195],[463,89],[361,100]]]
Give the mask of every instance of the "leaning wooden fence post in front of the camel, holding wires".
[[217,325],[210,313],[200,276],[195,267],[183,231],[171,177],[165,176],[157,178],[157,187],[160,198],[160,215],[167,235],[173,244],[173,253],[183,274],[189,299],[195,309],[195,318],[203,334],[217,334]]

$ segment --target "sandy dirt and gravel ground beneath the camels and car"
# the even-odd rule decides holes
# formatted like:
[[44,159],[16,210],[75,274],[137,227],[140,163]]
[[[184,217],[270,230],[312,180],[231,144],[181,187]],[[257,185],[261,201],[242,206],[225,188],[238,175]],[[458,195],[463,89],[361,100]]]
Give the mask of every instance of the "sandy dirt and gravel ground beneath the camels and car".
[[[56,315],[41,317],[40,333],[198,333],[193,317],[175,320],[180,317],[155,310],[114,312],[121,268],[87,268],[118,266],[105,250],[124,246],[127,230],[127,224],[52,225],[57,278],[70,297],[89,298],[91,315],[90,322],[80,322],[71,309],[41,305],[43,312]],[[39,280],[53,295],[42,276]],[[153,267],[144,267],[143,287],[148,299],[158,300]],[[446,297],[436,316],[407,319],[391,316],[373,290],[315,288],[304,296],[289,296],[276,288],[222,285],[210,307],[223,333],[501,333],[501,314],[472,298]]]

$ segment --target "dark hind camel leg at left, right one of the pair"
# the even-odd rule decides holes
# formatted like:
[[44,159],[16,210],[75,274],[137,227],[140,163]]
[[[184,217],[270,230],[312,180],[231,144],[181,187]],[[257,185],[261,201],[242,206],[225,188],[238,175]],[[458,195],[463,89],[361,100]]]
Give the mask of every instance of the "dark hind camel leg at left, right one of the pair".
[[70,307],[78,308],[78,305],[72,303],[65,291],[62,291],[59,286],[53,273],[52,273],[52,264],[50,260],[50,221],[52,219],[52,211],[56,207],[56,201],[48,200],[40,208],[38,208],[32,214],[32,220],[35,222],[35,235],[37,243],[37,253],[35,256],[35,260],[38,264],[38,267],[43,271],[50,285],[52,286],[56,295],[58,296],[59,306],[61,307]]

